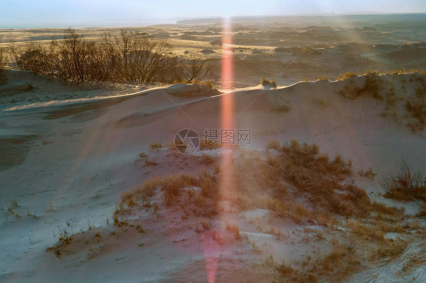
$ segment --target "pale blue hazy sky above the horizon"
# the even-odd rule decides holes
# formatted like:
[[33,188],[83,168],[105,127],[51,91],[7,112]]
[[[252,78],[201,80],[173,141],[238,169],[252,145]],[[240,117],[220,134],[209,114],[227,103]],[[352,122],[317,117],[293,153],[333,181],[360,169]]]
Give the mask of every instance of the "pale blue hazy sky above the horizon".
[[122,26],[154,19],[334,11],[426,12],[425,0],[1,0],[0,29]]

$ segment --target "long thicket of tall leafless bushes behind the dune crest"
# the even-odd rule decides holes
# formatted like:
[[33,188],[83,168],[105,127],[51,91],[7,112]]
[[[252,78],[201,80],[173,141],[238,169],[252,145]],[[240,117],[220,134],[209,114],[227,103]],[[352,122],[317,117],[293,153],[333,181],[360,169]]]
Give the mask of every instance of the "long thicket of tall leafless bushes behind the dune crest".
[[11,44],[12,65],[38,74],[57,77],[65,84],[114,81],[214,82],[207,57],[179,60],[165,40],[138,31],[121,30],[120,36],[104,33],[103,42],[86,41],[83,34],[68,28],[62,39],[50,45],[28,42],[18,48]]

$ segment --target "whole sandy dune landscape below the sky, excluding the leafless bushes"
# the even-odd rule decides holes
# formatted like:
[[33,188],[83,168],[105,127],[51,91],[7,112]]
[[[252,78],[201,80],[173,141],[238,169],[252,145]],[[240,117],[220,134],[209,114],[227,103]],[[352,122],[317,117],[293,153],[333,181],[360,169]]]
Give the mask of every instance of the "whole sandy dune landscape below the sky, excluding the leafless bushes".
[[[218,78],[231,51],[233,91],[8,66],[0,281],[426,282],[425,202],[381,186],[401,160],[426,175],[426,75],[407,72],[426,62],[423,17],[234,18],[226,50],[220,19],[131,28]],[[0,48],[53,35],[0,30]],[[334,81],[346,72],[364,75]],[[179,130],[203,138],[226,115],[249,152],[176,150]]]

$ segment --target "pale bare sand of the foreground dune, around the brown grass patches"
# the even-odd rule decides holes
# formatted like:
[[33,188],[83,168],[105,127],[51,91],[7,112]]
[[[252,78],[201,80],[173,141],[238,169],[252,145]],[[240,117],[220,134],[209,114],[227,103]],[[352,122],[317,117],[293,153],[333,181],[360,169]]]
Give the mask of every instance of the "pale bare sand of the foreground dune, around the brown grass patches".
[[[232,97],[235,128],[251,129],[253,156],[266,161],[278,155],[277,150],[265,149],[271,139],[316,143],[331,159],[340,154],[352,160],[354,173],[348,182],[365,189],[372,200],[403,207],[408,223],[417,221],[418,227],[410,226],[409,232],[398,235],[407,241],[402,253],[362,261],[344,280],[424,282],[425,265],[417,265],[425,260],[420,236],[425,220],[415,217],[420,202],[384,198],[378,180],[394,170],[402,156],[414,168],[422,168],[425,131],[413,133],[407,126],[411,120],[404,99],[415,97],[426,78],[413,73],[380,79],[385,85],[383,96],[394,86],[397,99],[390,106],[385,99],[368,95],[355,100],[339,95],[349,80],[362,86],[366,80],[362,76],[270,90],[256,86],[224,94],[179,84],[130,96],[2,111],[0,279],[271,282],[283,280],[271,260],[285,260],[296,267],[307,255],[314,259],[330,253],[331,238],[346,235],[344,219],[333,228],[303,220],[297,223],[268,209],[241,210],[226,194],[219,202],[219,213],[206,227],[200,224],[204,218],[185,218],[180,207],[165,205],[160,189],[149,207],[126,210],[120,215],[122,224],[114,225],[111,213],[121,192],[155,176],[214,170],[221,155],[208,153],[213,163],[206,163],[202,152],[183,155],[172,144],[180,129],[191,128],[201,136],[205,128],[220,128],[221,103]],[[288,106],[287,110],[282,111],[282,106]],[[161,147],[150,150],[154,142]],[[241,164],[247,158],[233,155]],[[369,178],[357,173],[369,167],[379,175]],[[12,204],[14,199],[18,206]],[[226,228],[227,223],[238,226],[239,237]],[[72,235],[67,244],[64,230]],[[392,237],[394,232],[384,235]],[[413,256],[418,258],[416,264],[402,269]]]

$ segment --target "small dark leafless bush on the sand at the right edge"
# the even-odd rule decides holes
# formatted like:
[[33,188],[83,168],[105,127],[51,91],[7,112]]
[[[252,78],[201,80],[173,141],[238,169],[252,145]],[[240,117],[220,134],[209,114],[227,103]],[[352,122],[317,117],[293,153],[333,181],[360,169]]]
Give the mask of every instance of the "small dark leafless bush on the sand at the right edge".
[[396,173],[391,173],[380,181],[387,195],[396,198],[414,197],[423,199],[426,191],[426,178],[420,170],[414,171],[404,159],[398,164]]

